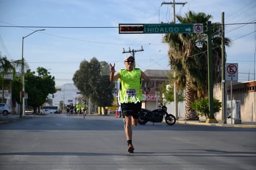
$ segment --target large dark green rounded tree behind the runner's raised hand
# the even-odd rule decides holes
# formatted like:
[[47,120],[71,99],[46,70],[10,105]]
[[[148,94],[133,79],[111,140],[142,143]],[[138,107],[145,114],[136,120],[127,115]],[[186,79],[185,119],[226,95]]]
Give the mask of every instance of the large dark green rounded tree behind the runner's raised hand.
[[114,84],[109,82],[109,65],[93,57],[84,60],[73,76],[73,82],[83,96],[98,106],[110,106],[113,101]]

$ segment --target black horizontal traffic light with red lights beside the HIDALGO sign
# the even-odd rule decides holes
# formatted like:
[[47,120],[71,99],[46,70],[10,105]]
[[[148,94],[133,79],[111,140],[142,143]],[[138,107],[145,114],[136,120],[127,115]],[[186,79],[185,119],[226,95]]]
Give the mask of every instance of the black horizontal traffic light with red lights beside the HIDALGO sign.
[[144,33],[143,24],[119,24],[119,33]]

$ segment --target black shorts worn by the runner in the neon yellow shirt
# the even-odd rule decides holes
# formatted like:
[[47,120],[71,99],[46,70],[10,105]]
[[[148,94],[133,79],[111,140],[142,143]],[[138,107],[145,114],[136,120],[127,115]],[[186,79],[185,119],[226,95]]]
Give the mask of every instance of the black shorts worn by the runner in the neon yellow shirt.
[[121,103],[122,113],[124,116],[132,116],[134,119],[139,119],[139,111],[142,108],[142,102],[137,103]]

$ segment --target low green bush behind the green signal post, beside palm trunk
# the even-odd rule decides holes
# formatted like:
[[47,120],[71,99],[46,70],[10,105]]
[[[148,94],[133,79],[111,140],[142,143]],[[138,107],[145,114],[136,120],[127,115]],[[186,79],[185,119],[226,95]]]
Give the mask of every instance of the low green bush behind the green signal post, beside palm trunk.
[[[200,116],[205,116],[207,119],[214,118],[210,117],[208,98],[196,100],[194,103],[191,103],[191,108],[197,111]],[[213,99],[213,113],[220,111],[220,108],[221,102]]]

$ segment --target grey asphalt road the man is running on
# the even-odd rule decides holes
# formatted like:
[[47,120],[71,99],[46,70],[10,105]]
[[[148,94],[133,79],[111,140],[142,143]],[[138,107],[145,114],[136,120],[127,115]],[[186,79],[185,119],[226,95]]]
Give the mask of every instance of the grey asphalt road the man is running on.
[[52,114],[0,124],[0,169],[255,169],[256,129],[148,123],[127,153],[121,118]]

